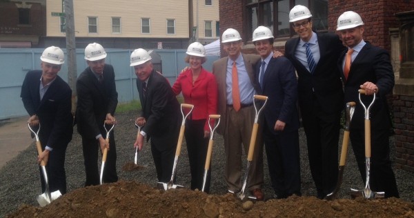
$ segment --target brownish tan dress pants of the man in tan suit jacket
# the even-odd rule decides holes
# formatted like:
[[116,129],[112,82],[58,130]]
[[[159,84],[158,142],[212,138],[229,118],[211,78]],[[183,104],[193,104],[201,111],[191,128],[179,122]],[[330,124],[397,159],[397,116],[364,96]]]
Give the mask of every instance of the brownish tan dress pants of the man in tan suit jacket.
[[[247,156],[255,121],[255,108],[247,106],[236,112],[233,106],[226,108],[224,125],[224,150],[226,151],[226,166],[224,177],[229,191],[238,192],[242,189],[242,148]],[[245,172],[244,170],[243,172]],[[253,161],[250,163],[247,186],[248,190],[261,188],[264,183],[263,174],[263,138],[262,126],[259,125]],[[244,175],[246,176],[246,175]]]

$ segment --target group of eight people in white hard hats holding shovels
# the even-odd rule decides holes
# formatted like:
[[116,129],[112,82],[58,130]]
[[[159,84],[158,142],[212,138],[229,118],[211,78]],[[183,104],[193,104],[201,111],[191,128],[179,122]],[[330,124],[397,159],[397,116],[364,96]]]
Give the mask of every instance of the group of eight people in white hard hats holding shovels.
[[[355,12],[344,12],[337,20],[337,32],[313,31],[312,14],[305,6],[295,6],[289,21],[299,37],[288,39],[285,54],[275,52],[273,33],[259,26],[253,32],[257,54],[242,53],[242,37],[228,28],[221,37],[228,54],[213,63],[213,72],[202,64],[205,48],[195,42],[188,46],[186,63],[175,83],[152,67],[150,54],[139,48],[130,55],[130,66],[137,75],[141,128],[134,143],[141,150],[144,140],[151,152],[160,183],[170,181],[177,139],[182,122],[177,95],[194,105],[186,120],[186,145],[190,162],[191,189],[203,187],[204,163],[210,137],[208,115],[221,115],[217,132],[224,137],[224,177],[228,192],[242,189],[242,154],[248,152],[255,108],[253,95],[265,95],[268,104],[259,119],[253,160],[248,170],[246,188],[257,200],[264,199],[263,146],[266,150],[271,186],[275,199],[302,195],[299,159],[300,117],[306,133],[308,162],[317,197],[333,191],[338,174],[340,119],[346,102],[358,100],[358,90],[365,90],[362,101],[370,102],[372,156],[371,188],[384,191],[385,197],[399,197],[389,157],[388,130],[391,128],[386,95],[394,85],[393,68],[388,52],[363,39],[364,23]],[[99,149],[108,149],[103,172],[104,182],[117,181],[115,135],[104,139],[103,122],[115,125],[117,90],[115,73],[105,63],[106,52],[98,43],[85,49],[86,68],[77,79],[77,110],[71,114],[71,90],[58,75],[64,62],[60,48],[51,46],[41,55],[41,70],[28,72],[21,88],[21,98],[30,115],[28,123],[41,123],[39,138],[44,160],[50,172],[50,191],[66,193],[65,152],[72,139],[73,123],[82,137],[85,186],[99,184],[97,166]],[[297,74],[296,74],[296,73]],[[366,179],[364,154],[364,109],[357,103],[351,123],[351,143],[362,180]],[[145,139],[146,138],[146,139]],[[42,175],[41,175],[42,177]],[[42,190],[45,190],[43,179]],[[210,172],[204,190],[209,192]]]

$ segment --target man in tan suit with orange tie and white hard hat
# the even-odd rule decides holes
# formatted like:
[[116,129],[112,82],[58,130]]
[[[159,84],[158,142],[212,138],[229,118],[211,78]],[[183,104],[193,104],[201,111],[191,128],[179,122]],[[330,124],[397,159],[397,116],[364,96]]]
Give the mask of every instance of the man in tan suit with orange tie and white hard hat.
[[[228,57],[221,58],[213,63],[213,74],[216,77],[219,89],[218,114],[222,124],[217,132],[224,136],[226,150],[226,166],[224,170],[229,192],[239,192],[242,189],[242,147],[248,153],[250,136],[255,119],[253,95],[259,92],[259,84],[255,81],[255,64],[260,57],[255,54],[242,54],[242,37],[237,30],[229,28],[221,37],[224,51]],[[238,91],[233,91],[232,75],[237,75]],[[235,88],[237,88],[235,86]],[[235,94],[235,95],[233,95]],[[255,143],[253,161],[251,161],[248,175],[248,190],[257,200],[263,200],[261,186],[263,175],[263,139],[262,127]],[[243,146],[242,146],[243,144]]]

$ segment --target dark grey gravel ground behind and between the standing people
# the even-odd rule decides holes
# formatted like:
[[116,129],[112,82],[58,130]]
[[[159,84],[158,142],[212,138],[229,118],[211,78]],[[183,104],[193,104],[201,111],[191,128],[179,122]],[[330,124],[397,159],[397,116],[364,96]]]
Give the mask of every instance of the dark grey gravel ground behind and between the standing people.
[[[132,110],[116,116],[118,124],[115,126],[115,140],[117,142],[117,168],[119,170],[119,179],[135,180],[150,186],[155,186],[157,179],[149,145],[146,145],[146,147],[139,152],[138,164],[145,166],[144,169],[133,172],[125,172],[121,170],[126,163],[134,161],[135,150],[132,148],[132,143],[135,141],[137,134],[137,129],[134,127],[134,120],[138,114],[139,112],[137,110]],[[22,137],[29,137],[29,133],[28,135],[23,135]],[[304,135],[303,128],[299,129],[299,137],[302,165],[302,195],[315,196],[316,190],[308,167],[306,137]],[[222,144],[222,137],[215,134],[211,169],[211,194],[222,195],[226,193],[226,184],[223,176],[223,168],[225,164],[225,160],[223,158],[224,146],[222,146]],[[339,148],[341,144],[342,137],[339,142]],[[395,148],[393,146],[393,137],[391,137],[391,145],[391,157],[394,157]],[[33,143],[33,146],[30,146],[30,148],[21,152],[17,157],[12,159],[12,161],[9,161],[6,166],[0,169],[0,217],[4,217],[10,212],[17,210],[17,208],[19,208],[22,204],[37,206],[36,197],[41,194],[41,189],[36,157],[37,152]],[[268,169],[266,165],[266,155],[264,163],[265,184],[263,190],[265,192],[266,199],[270,199],[273,195],[273,190],[270,187],[270,179],[268,177]],[[188,156],[184,143],[181,150],[181,156],[179,157],[179,164],[177,166],[176,184],[189,187],[189,174],[190,169],[188,166]],[[81,138],[77,133],[74,134],[66,153],[66,175],[68,192],[77,188],[83,188],[85,172],[83,168]],[[414,202],[414,173],[395,169],[395,176],[397,178],[397,185],[400,190],[401,199]],[[364,188],[364,184],[362,183],[359,171],[357,170],[355,158],[351,148],[348,148],[348,158],[344,172],[344,180],[339,192],[339,197],[349,199],[349,188]]]

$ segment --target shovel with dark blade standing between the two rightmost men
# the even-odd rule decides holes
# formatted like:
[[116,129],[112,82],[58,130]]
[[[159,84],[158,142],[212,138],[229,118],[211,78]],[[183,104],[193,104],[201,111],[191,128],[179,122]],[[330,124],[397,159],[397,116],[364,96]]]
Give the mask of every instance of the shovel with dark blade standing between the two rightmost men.
[[338,179],[333,192],[326,195],[327,200],[336,199],[339,188],[341,188],[342,178],[344,176],[345,170],[346,155],[348,153],[349,126],[351,125],[351,119],[353,112],[355,111],[355,106],[356,103],[354,101],[346,103],[346,126],[344,130],[344,139],[342,140],[341,158],[339,159]]

